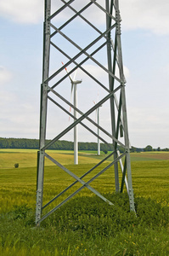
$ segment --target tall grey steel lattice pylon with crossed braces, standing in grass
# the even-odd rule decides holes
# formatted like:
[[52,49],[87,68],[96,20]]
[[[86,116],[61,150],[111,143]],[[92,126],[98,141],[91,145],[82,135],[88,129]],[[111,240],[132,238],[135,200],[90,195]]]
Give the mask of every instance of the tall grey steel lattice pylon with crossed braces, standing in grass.
[[[82,84],[77,85],[78,107],[70,101],[69,77],[76,69],[76,76],[82,79]],[[122,192],[126,184],[129,207],[134,211],[125,84],[119,1],[45,0],[40,148],[37,154],[37,225],[84,188],[112,205],[94,189],[96,178],[100,180],[103,177],[104,183],[104,176],[101,176],[104,172],[109,172],[115,192]],[[98,91],[99,102],[93,104]],[[94,116],[100,106],[98,124]],[[71,113],[69,108],[76,110],[78,115]],[[86,142],[88,139],[93,141],[92,137],[96,140],[99,138],[104,144],[112,143],[113,148],[104,160],[79,175],[77,169],[71,167],[69,170],[53,153],[47,152],[59,139],[71,137],[77,125],[79,137],[82,134]],[[53,139],[48,141],[51,135]],[[123,148],[123,153],[120,154],[119,148]],[[73,180],[68,187],[59,191],[56,178],[56,191],[59,194],[49,201],[44,197],[45,162],[48,160],[57,166],[56,177],[59,172],[65,172]],[[69,191],[70,195],[67,195]],[[64,199],[59,201],[60,198]]]

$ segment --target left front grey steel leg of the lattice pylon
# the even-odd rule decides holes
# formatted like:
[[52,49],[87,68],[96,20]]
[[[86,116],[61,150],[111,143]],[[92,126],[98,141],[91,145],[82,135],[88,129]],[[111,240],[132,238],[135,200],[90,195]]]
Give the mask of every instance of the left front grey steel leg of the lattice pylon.
[[46,139],[47,125],[47,106],[48,106],[48,72],[49,72],[49,55],[50,55],[50,13],[51,0],[45,0],[45,21],[43,26],[43,67],[42,67],[42,85],[41,85],[41,114],[40,114],[40,143],[37,157],[37,207],[36,207],[36,224],[41,219],[42,214],[42,195],[43,195],[43,176],[44,176],[44,153],[42,149]]

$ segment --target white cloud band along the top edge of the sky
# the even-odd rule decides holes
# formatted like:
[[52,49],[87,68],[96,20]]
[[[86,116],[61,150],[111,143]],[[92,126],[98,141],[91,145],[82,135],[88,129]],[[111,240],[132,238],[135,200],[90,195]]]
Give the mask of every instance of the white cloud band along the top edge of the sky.
[[[83,0],[83,5],[89,3]],[[98,0],[97,3],[104,6],[104,0]],[[59,9],[62,5],[52,1],[53,11]],[[81,1],[74,1],[72,7],[82,9]],[[168,0],[121,0],[120,2],[122,26],[124,29],[145,29],[156,34],[169,33],[169,2]],[[97,11],[95,11],[97,10]],[[65,9],[59,14],[59,20],[68,19],[74,13],[70,9]],[[102,15],[103,14],[103,15]],[[8,20],[20,23],[37,23],[43,19],[43,1],[42,0],[7,0],[0,2],[0,15]],[[94,4],[82,13],[87,19],[98,24],[104,24],[105,15]]]

